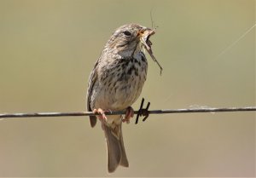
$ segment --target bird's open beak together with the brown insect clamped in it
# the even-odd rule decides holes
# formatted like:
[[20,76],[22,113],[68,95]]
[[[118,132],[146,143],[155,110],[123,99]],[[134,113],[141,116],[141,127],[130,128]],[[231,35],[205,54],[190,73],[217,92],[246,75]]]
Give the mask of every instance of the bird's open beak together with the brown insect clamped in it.
[[161,74],[163,68],[162,66],[160,66],[160,63],[155,59],[153,55],[153,51],[151,49],[152,43],[149,40],[149,37],[154,35],[154,33],[155,33],[155,30],[146,29],[146,30],[139,31],[138,36],[140,37],[141,43],[143,43],[144,48],[148,51],[148,54],[151,56],[152,60],[154,60],[157,63],[157,65],[160,67],[160,74]]

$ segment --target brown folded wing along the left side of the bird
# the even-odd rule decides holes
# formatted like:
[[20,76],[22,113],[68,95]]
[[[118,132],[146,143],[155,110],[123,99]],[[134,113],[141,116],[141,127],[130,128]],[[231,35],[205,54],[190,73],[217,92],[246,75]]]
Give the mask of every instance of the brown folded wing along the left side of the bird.
[[[87,95],[86,95],[86,99],[87,99],[87,110],[88,112],[92,112],[92,108],[90,106],[90,96],[94,87],[94,84],[96,83],[97,80],[97,72],[96,72],[96,68],[98,66],[98,60],[96,61],[96,64],[92,70],[92,72],[90,72],[90,77],[88,80],[88,89],[87,89]],[[90,116],[90,126],[94,127],[96,125],[96,116]]]

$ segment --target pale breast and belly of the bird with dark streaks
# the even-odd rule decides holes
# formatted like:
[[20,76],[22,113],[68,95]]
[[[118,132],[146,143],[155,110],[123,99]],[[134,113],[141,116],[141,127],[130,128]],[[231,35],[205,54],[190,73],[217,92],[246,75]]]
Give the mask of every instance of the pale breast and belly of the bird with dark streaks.
[[147,78],[145,55],[141,52],[131,58],[114,60],[105,67],[108,70],[99,83],[103,96],[99,107],[114,111],[131,106],[141,94]]

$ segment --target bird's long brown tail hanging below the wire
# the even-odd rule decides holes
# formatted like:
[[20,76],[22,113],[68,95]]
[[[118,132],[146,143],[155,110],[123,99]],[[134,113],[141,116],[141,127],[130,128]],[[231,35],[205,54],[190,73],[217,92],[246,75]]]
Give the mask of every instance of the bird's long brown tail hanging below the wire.
[[109,173],[112,173],[119,165],[129,167],[122,135],[122,123],[116,125],[116,127],[119,128],[113,130],[111,127],[108,127],[108,125],[102,123],[102,129],[104,129],[108,146]]

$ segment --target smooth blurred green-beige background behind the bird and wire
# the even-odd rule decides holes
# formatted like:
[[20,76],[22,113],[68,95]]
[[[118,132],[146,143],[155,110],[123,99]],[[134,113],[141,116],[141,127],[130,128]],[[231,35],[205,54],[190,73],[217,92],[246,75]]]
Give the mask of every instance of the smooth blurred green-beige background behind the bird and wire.
[[[0,113],[85,111],[87,79],[117,27],[151,38],[151,109],[255,106],[254,0],[0,0]],[[247,33],[246,33],[247,32]],[[238,40],[238,41],[237,41]],[[130,168],[107,174],[88,118],[0,121],[0,176],[255,176],[255,112],[151,115],[124,124]]]

